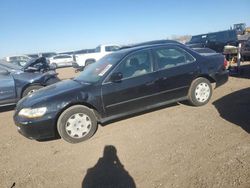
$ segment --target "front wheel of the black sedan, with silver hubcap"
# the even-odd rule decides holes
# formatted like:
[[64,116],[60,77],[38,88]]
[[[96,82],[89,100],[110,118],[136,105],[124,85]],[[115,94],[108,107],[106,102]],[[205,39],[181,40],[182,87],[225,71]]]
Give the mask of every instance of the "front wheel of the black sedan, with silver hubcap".
[[95,134],[97,118],[93,110],[85,106],[71,106],[60,115],[57,130],[61,138],[69,143],[83,142]]

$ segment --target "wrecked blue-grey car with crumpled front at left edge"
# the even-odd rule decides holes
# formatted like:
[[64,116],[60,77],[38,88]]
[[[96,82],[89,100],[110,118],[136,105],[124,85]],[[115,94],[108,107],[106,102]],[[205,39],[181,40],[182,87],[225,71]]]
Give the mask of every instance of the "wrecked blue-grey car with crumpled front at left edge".
[[22,97],[59,79],[45,58],[29,61],[24,67],[0,62],[0,106],[16,104]]

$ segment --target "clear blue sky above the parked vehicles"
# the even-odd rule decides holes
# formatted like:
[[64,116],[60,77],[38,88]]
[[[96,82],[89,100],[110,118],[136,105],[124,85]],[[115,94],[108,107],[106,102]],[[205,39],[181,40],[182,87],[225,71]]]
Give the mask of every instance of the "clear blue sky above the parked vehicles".
[[1,0],[0,57],[250,26],[249,0]]

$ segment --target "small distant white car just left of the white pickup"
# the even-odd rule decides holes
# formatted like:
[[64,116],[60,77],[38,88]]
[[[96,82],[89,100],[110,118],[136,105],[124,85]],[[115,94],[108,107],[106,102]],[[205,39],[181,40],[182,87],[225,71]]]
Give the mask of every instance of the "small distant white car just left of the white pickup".
[[60,54],[50,57],[48,59],[48,62],[49,64],[55,66],[56,68],[71,67],[74,62],[74,58],[73,55]]

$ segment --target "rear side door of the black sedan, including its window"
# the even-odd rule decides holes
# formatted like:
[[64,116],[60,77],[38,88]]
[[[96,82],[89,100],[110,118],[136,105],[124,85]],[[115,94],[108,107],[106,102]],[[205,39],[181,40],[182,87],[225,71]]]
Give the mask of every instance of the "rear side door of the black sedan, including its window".
[[157,66],[155,86],[158,102],[180,99],[199,73],[196,59],[181,47],[159,47],[153,50]]

